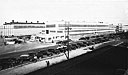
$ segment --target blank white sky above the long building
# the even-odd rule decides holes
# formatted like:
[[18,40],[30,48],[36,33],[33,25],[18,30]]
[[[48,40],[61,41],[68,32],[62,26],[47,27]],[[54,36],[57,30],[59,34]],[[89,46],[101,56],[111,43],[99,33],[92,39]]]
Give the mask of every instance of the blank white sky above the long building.
[[0,25],[12,20],[128,24],[128,0],[0,0]]

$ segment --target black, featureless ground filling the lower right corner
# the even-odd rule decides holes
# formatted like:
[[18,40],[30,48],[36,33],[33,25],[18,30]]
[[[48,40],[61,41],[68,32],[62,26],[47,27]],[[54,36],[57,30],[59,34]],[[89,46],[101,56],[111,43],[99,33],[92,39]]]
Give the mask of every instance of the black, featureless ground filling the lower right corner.
[[[123,50],[122,50],[123,49]],[[27,75],[123,75],[127,49],[107,46]]]

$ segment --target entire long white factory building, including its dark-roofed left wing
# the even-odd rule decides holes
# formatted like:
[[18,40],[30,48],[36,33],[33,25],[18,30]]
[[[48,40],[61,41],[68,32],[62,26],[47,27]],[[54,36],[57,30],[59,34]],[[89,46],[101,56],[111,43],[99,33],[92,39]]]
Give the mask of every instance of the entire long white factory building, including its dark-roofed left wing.
[[[69,30],[68,30],[69,28]],[[77,39],[77,37],[88,35],[99,35],[115,33],[115,27],[112,24],[73,22],[73,21],[57,21],[57,22],[15,22],[3,24],[2,36],[25,36],[32,35],[31,39],[39,39],[44,42],[54,42],[57,40],[65,40],[69,32],[69,38]]]

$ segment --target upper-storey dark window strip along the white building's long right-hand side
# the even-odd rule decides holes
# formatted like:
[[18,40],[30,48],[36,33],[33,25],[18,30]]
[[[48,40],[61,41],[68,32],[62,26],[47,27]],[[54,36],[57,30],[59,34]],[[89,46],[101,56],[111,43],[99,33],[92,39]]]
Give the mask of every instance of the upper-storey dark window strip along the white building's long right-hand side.
[[[59,24],[59,27],[67,27],[68,25]],[[69,27],[108,27],[108,25],[72,25],[70,24]]]

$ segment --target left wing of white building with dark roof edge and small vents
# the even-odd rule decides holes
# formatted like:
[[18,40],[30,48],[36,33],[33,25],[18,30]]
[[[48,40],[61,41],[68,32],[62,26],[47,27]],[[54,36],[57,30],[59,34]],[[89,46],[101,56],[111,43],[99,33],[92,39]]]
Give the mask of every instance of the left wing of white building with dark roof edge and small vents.
[[3,25],[3,36],[24,36],[39,34],[44,31],[45,23],[12,22]]

